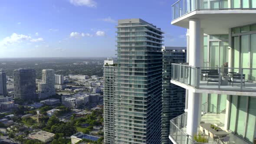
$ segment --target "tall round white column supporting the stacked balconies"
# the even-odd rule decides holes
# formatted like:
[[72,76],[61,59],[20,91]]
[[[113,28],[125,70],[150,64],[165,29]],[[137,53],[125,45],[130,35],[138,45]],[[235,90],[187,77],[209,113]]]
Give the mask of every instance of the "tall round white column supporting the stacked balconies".
[[[199,19],[189,21],[189,65],[201,67],[203,65],[203,29]],[[191,70],[191,83],[198,85],[200,82],[200,70]],[[197,80],[197,81],[196,81]],[[198,125],[201,121],[202,94],[188,90],[187,108],[187,134],[191,139],[197,134]]]

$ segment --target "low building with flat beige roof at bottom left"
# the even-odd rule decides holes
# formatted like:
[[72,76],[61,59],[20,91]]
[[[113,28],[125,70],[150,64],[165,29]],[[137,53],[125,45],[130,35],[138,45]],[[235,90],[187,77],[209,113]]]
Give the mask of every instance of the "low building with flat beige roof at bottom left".
[[33,133],[29,134],[29,138],[37,139],[39,141],[43,141],[43,142],[47,143],[47,142],[53,141],[54,135],[55,134],[49,133],[46,131],[37,131],[37,132],[33,132]]

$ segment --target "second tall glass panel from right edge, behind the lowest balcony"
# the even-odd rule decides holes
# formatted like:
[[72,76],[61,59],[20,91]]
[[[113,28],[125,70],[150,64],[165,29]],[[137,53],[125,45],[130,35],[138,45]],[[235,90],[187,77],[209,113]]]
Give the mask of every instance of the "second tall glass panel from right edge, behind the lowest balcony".
[[239,96],[236,134],[240,135],[241,137],[244,137],[244,131],[246,128],[246,122],[244,121],[247,116],[246,101],[246,96]]

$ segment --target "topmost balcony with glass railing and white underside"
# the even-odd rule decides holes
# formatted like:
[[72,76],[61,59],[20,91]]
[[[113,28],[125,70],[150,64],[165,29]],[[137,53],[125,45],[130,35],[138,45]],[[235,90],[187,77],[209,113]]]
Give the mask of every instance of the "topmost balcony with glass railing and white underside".
[[229,28],[255,23],[255,0],[178,0],[172,5],[172,22],[189,29],[189,21],[201,21],[203,32],[209,35],[228,34]]

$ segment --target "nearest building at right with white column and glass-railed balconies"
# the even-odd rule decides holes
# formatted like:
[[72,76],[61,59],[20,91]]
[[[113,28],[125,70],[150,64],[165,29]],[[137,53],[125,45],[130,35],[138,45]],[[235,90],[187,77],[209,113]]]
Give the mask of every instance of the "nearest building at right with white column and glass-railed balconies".
[[207,144],[255,143],[256,1],[183,0],[172,14],[171,24],[188,29],[188,63],[172,64],[171,83],[186,88],[187,99],[169,138],[195,143],[200,130],[209,132]]

